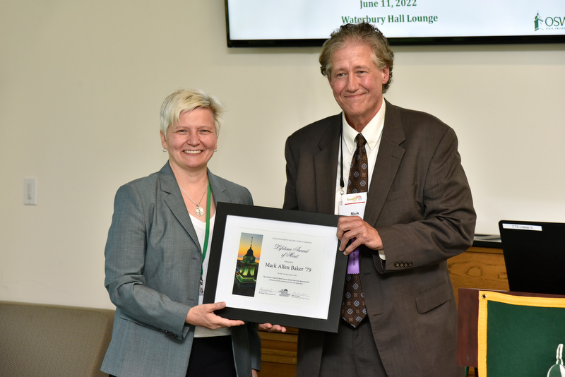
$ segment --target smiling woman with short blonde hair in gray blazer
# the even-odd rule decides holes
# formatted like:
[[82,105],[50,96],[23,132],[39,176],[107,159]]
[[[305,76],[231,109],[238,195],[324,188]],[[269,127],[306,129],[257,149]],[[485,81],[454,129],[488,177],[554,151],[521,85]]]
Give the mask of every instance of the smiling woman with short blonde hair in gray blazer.
[[201,91],[169,95],[160,133],[169,162],[117,191],[105,249],[117,309],[102,371],[112,376],[243,377],[259,369],[256,326],[216,316],[223,302],[202,304],[215,204],[252,204],[246,188],[207,167],[222,112]]

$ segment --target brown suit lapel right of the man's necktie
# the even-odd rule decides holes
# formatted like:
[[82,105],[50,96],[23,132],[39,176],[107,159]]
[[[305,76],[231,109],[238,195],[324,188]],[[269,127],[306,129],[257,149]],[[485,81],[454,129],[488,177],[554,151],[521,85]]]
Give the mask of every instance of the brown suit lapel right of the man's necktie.
[[403,143],[404,140],[398,109],[387,101],[383,136],[371,178],[371,188],[369,188],[364,216],[364,220],[370,225],[376,225],[388,192],[391,191],[394,177],[405,152],[405,149],[400,147],[400,143]]

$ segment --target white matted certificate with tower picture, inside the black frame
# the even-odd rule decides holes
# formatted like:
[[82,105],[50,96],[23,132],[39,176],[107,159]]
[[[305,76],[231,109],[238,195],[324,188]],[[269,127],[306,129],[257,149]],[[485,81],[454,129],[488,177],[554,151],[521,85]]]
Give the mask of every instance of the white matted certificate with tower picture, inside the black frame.
[[226,229],[217,301],[254,311],[328,317],[335,228],[228,216]]

